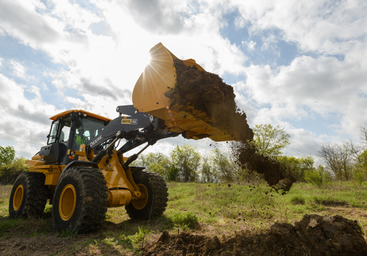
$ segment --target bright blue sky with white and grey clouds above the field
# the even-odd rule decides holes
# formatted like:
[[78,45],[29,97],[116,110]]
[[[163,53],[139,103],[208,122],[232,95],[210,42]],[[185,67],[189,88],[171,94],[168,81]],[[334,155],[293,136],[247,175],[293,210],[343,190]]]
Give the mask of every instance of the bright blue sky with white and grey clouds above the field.
[[[1,0],[0,145],[30,158],[51,116],[109,118],[161,42],[235,90],[250,127],[281,125],[287,156],[316,156],[367,124],[365,0]],[[211,140],[160,140],[147,152]],[[219,143],[218,147],[225,147]]]

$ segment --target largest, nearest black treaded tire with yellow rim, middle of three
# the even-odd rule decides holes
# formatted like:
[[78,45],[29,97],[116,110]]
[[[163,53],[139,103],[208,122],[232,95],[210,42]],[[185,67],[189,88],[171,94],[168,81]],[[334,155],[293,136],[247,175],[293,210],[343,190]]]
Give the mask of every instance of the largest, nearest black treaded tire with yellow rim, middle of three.
[[[98,230],[105,220],[108,204],[108,190],[105,176],[96,168],[74,166],[64,171],[53,197],[53,225],[55,230],[75,230],[80,233]],[[70,204],[64,199],[63,191],[74,188],[75,207],[67,212]],[[63,194],[64,193],[64,194]],[[60,196],[62,198],[60,199]],[[67,197],[67,196],[65,196]],[[61,200],[61,203],[60,203]],[[63,204],[64,202],[64,204]],[[61,207],[60,207],[61,205]],[[62,206],[64,205],[64,206]],[[65,206],[66,205],[66,206]],[[69,216],[62,212],[63,207]],[[64,218],[64,219],[63,219]]]

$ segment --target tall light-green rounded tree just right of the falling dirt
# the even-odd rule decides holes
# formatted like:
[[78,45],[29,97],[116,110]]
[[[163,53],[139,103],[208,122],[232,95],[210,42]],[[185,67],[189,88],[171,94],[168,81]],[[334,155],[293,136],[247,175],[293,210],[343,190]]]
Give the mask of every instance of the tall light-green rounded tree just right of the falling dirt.
[[265,156],[280,156],[282,150],[290,144],[289,134],[280,125],[255,125],[253,135],[253,144]]

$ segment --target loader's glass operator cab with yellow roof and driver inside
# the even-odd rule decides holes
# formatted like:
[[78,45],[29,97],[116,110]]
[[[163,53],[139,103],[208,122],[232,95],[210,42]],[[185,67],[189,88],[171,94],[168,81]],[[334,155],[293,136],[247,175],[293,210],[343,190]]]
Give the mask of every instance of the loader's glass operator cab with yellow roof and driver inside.
[[69,110],[50,118],[53,120],[47,145],[39,151],[49,165],[67,165],[78,160],[78,156],[70,159],[69,149],[79,150],[80,145],[88,145],[102,129],[111,121],[83,110]]

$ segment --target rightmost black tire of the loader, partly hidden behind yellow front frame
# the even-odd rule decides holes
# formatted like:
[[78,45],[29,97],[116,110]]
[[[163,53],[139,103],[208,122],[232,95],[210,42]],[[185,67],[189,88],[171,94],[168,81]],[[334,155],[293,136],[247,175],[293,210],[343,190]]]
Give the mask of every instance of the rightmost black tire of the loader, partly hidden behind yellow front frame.
[[143,184],[147,189],[147,203],[141,209],[134,207],[134,199],[125,206],[131,219],[150,219],[163,214],[167,207],[168,192],[163,178],[156,172],[138,170],[132,174],[135,183]]

